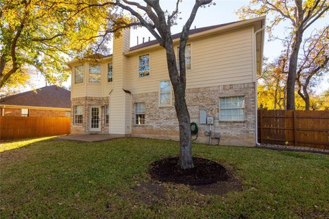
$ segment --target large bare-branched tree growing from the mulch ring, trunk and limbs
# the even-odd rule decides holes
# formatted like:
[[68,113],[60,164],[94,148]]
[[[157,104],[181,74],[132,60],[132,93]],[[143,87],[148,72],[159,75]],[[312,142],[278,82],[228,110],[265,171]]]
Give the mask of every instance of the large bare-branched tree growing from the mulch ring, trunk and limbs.
[[[200,7],[212,4],[212,0],[195,0],[195,4],[188,16],[186,23],[182,27],[179,40],[178,60],[175,57],[173,47],[173,38],[171,27],[175,25],[176,19],[180,13],[179,6],[181,0],[175,2],[175,10],[169,12],[162,9],[159,0],[144,0],[144,3],[128,0],[113,0],[103,1],[98,4],[83,3],[83,8],[106,7],[107,5],[114,6],[114,9],[121,9],[121,14],[130,14],[130,26],[145,27],[155,38],[161,47],[166,50],[167,68],[169,78],[173,86],[175,96],[175,111],[178,117],[180,128],[180,168],[193,168],[192,145],[191,145],[191,120],[186,105],[186,66],[185,66],[185,49],[188,40],[190,27]],[[115,26],[117,21],[108,19]],[[127,24],[128,25],[128,24]],[[112,31],[113,27],[104,31],[101,36],[106,36]]]

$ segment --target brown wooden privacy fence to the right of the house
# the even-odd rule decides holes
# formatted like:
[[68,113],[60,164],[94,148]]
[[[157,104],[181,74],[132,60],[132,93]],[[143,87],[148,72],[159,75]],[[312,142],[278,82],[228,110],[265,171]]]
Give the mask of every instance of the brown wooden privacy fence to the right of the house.
[[258,110],[258,142],[329,150],[329,111]]

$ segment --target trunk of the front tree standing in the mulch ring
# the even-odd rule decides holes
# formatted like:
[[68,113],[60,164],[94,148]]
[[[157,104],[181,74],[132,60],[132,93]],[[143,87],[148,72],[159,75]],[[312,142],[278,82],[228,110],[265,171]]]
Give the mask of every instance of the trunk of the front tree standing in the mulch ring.
[[180,168],[183,170],[194,167],[192,157],[192,141],[191,141],[191,120],[188,113],[185,88],[180,81],[178,68],[176,64],[175,52],[173,50],[172,40],[166,40],[166,55],[169,77],[173,85],[173,94],[175,96],[175,111],[180,127]]

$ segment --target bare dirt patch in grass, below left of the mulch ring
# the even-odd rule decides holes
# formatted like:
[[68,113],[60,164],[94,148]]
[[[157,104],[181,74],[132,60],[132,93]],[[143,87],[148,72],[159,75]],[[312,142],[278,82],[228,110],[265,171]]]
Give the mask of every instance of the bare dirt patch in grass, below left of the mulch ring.
[[167,201],[166,188],[164,185],[154,182],[143,182],[132,188],[138,192],[141,200],[147,204],[155,204],[158,201]]

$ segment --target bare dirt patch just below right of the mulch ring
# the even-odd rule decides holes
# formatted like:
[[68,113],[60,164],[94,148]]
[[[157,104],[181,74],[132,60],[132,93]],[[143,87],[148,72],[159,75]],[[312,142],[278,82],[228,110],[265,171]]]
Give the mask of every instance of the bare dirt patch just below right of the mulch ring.
[[194,185],[191,189],[197,191],[199,194],[205,195],[219,195],[224,196],[228,192],[235,192],[242,190],[242,183],[239,179],[228,177],[226,181],[218,181],[208,185]]

